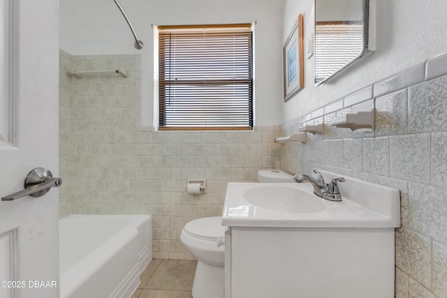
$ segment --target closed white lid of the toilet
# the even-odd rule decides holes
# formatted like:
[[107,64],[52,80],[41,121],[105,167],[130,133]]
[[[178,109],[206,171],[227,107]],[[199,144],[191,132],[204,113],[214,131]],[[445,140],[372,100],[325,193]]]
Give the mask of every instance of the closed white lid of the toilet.
[[207,241],[217,241],[219,236],[225,236],[225,226],[222,225],[222,217],[198,218],[184,225],[184,232],[191,237]]

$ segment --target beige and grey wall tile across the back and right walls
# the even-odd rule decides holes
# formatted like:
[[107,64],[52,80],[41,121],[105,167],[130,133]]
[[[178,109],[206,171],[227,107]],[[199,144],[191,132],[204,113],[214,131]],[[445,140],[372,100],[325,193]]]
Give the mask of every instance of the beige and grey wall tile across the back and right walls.
[[[221,215],[228,181],[254,181],[261,168],[309,173],[319,167],[400,189],[396,297],[447,297],[447,68],[435,67],[439,59],[339,98],[281,130],[158,132],[138,129],[138,56],[61,52],[61,217],[152,214],[154,258],[188,259],[179,232],[193,218]],[[129,70],[129,77],[67,75],[106,68]],[[374,130],[327,125],[372,107]],[[308,133],[306,144],[272,141],[305,123],[324,123],[323,134]],[[207,179],[205,195],[186,193],[191,178]]]

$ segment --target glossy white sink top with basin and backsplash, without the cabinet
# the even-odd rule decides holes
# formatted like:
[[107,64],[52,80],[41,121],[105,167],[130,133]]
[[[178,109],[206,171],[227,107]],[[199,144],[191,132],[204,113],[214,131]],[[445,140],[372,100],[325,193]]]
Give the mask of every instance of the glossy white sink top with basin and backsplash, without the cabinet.
[[395,188],[320,170],[339,184],[342,202],[323,200],[309,183],[228,183],[222,224],[240,227],[397,228],[400,193]]

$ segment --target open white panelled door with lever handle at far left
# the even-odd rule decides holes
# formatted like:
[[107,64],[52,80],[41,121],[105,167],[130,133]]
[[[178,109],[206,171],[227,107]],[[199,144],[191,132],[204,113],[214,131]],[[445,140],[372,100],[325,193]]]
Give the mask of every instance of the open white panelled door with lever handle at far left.
[[[58,177],[59,1],[0,0],[0,197]],[[58,188],[0,201],[0,297],[59,297]]]

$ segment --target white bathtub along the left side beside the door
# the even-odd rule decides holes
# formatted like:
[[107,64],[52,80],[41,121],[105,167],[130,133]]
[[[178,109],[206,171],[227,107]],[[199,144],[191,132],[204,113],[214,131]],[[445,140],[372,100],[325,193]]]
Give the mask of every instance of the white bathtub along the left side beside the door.
[[62,218],[59,251],[61,298],[129,298],[152,259],[151,217]]

